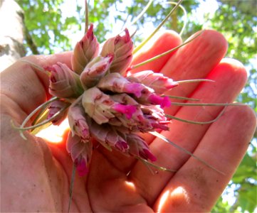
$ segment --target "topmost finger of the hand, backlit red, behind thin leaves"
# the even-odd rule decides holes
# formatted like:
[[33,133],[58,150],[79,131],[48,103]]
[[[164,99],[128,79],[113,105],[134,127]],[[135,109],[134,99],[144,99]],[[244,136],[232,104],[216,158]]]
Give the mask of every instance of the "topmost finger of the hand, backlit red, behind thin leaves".
[[[154,37],[145,45],[139,53],[133,56],[132,65],[137,65],[140,62],[148,60],[156,55],[171,50],[182,43],[180,36],[174,31],[164,31],[157,33]],[[142,65],[136,69],[131,70],[131,73],[139,72],[142,70],[152,70],[154,72],[159,72],[165,65],[167,60],[174,54],[169,53],[157,60]]]

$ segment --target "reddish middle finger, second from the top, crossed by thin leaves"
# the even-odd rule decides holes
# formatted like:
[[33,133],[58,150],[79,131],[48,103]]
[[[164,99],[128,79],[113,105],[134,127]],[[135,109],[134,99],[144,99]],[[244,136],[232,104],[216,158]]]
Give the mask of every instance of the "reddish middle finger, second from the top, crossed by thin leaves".
[[[192,37],[194,38],[195,35]],[[216,31],[204,31],[192,42],[179,48],[169,58],[161,72],[174,80],[205,78],[219,64],[226,50],[227,43],[223,35]],[[197,85],[196,83],[181,84],[166,94],[188,97]],[[172,101],[179,102],[177,99],[172,99]],[[174,115],[178,109],[179,107],[169,107],[165,109],[165,113]],[[154,136],[146,135],[145,140],[151,143]]]

